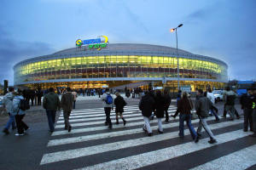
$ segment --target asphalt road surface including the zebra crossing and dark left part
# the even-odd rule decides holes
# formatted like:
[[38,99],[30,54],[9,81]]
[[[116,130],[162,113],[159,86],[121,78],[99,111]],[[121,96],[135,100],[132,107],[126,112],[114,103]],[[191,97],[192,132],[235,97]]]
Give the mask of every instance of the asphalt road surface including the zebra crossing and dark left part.
[[[256,139],[248,137],[249,132],[242,132],[242,117],[235,122],[224,119],[215,122],[214,117],[209,117],[208,123],[218,144],[207,144],[206,133],[195,144],[189,132],[183,139],[177,136],[177,118],[163,122],[163,134],[157,133],[154,120],[151,123],[154,136],[148,137],[142,130],[138,99],[128,99],[127,102],[126,126],[114,124],[109,130],[103,125],[105,117],[100,101],[78,101],[77,110],[71,116],[71,133],[64,131],[62,116],[57,119],[55,133],[49,133],[44,111],[35,107],[34,113],[31,111],[25,118],[31,127],[25,136],[16,137],[14,131],[0,135],[0,170],[256,169]],[[223,104],[218,103],[217,107],[222,115]],[[240,105],[236,105],[236,109],[241,114]],[[170,111],[175,111],[175,102]],[[193,126],[197,128],[198,120],[193,121]]]

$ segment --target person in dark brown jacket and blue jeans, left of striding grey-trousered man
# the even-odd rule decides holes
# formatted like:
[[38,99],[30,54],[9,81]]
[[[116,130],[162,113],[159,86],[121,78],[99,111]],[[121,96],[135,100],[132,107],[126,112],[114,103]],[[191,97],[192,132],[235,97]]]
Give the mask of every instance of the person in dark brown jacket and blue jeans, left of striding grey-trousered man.
[[183,92],[182,98],[177,102],[177,111],[173,118],[179,114],[179,137],[184,137],[184,122],[187,122],[189,127],[189,132],[193,140],[197,139],[197,133],[195,133],[195,128],[191,124],[191,110],[193,109],[193,103],[189,99],[187,92]]

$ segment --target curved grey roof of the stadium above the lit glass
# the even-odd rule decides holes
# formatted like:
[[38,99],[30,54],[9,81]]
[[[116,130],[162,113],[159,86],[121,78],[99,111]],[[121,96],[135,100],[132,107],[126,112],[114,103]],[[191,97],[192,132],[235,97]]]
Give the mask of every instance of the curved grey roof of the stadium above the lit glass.
[[48,60],[48,59],[56,59],[60,56],[66,58],[66,57],[71,57],[70,55],[73,55],[73,57],[91,56],[91,55],[92,56],[93,55],[111,55],[111,54],[175,56],[176,53],[178,53],[179,56],[184,58],[212,61],[228,67],[228,65],[224,63],[224,61],[222,60],[214,59],[212,57],[207,57],[203,55],[191,54],[188,51],[185,51],[182,49],[176,49],[176,48],[160,46],[160,45],[140,44],[140,43],[110,43],[108,44],[108,48],[102,48],[99,51],[96,49],[88,49],[88,46],[82,46],[81,48],[67,48],[67,49],[58,51],[54,54],[49,54],[49,55],[35,57],[32,59],[23,60],[17,63],[14,66],[14,68],[20,64],[32,63],[32,62]]

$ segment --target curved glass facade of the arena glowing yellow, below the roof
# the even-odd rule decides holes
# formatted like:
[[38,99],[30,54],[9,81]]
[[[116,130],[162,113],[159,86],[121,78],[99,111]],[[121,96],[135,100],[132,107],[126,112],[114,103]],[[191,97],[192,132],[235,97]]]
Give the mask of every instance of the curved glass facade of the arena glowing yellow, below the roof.
[[[177,57],[150,55],[67,56],[15,65],[15,85],[55,79],[177,77]],[[227,80],[227,65],[179,58],[181,78]]]

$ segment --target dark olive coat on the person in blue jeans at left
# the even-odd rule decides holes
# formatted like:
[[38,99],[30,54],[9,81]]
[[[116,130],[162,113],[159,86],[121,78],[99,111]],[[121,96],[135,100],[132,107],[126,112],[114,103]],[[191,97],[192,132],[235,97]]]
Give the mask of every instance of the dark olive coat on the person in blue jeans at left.
[[44,96],[43,106],[44,109],[50,111],[57,111],[57,109],[60,109],[61,102],[58,94],[55,94],[54,92],[49,92],[48,94],[46,94]]

